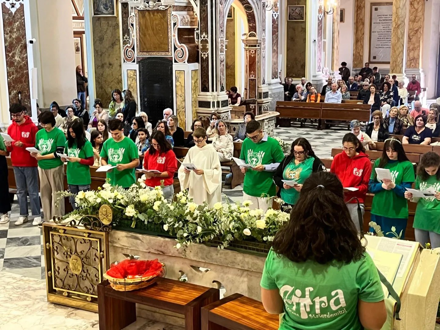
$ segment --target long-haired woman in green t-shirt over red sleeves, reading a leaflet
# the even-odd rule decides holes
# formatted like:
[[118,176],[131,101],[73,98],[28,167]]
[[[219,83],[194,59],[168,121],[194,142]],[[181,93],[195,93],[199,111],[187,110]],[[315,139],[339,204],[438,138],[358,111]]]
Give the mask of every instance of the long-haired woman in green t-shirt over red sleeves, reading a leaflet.
[[75,197],[80,191],[89,191],[90,166],[94,164],[92,143],[85,137],[84,126],[81,121],[73,121],[67,128],[67,141],[64,148],[64,154],[67,158],[61,160],[67,161],[67,186],[69,191],[74,194],[70,196],[70,204],[73,209],[77,209]]

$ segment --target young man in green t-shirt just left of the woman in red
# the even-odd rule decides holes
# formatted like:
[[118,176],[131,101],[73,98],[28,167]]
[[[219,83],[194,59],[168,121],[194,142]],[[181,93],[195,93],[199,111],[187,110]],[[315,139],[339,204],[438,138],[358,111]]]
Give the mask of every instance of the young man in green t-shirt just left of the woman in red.
[[101,165],[116,166],[107,171],[107,179],[113,186],[130,187],[136,182],[135,168],[139,165],[136,143],[126,138],[123,123],[118,119],[109,121],[112,139],[104,142],[101,150]]

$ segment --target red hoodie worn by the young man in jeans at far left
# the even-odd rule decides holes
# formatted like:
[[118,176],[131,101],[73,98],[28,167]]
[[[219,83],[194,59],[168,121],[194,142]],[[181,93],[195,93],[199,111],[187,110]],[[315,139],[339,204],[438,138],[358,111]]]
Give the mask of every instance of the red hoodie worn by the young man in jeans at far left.
[[26,148],[35,147],[35,135],[38,128],[29,116],[24,118],[25,122],[22,125],[12,121],[12,124],[7,128],[7,134],[15,141],[21,141],[23,146],[15,147],[12,142],[11,147],[7,147],[7,151],[11,152],[12,166],[37,167],[37,159],[32,157]]

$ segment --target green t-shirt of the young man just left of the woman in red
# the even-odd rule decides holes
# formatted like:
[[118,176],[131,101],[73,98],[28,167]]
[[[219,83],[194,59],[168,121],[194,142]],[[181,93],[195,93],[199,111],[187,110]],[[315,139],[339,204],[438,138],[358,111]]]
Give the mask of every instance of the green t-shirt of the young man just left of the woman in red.
[[[107,158],[107,163],[112,166],[128,164],[133,159],[139,158],[136,143],[128,137],[124,137],[124,139],[119,142],[116,142],[114,139],[107,139],[106,142],[104,142],[100,156]],[[118,171],[114,168],[107,172],[107,179],[110,179],[110,184],[113,186],[127,188],[136,182],[135,172],[136,170],[134,168],[125,169],[123,171]]]

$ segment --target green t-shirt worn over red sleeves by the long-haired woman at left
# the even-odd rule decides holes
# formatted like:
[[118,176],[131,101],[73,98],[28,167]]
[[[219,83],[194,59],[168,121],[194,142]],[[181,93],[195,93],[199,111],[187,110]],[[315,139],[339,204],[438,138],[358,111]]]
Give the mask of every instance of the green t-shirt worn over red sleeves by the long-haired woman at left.
[[[84,146],[81,149],[78,149],[76,143],[73,143],[72,147],[69,148],[69,142],[66,141],[64,153],[69,157],[77,157],[82,159],[93,157],[92,143],[86,140]],[[92,183],[92,179],[90,178],[90,166],[80,164],[77,161],[68,161],[67,183],[79,186],[86,186]]]

